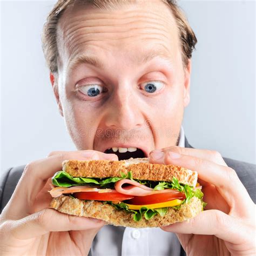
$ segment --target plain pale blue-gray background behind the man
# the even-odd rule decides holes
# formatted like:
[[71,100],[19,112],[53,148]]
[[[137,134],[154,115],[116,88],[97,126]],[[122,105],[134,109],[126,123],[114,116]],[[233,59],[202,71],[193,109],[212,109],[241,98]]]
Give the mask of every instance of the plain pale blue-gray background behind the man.
[[[41,49],[53,3],[1,2],[1,171],[53,150],[75,150]],[[255,2],[180,5],[199,41],[183,122],[186,137],[194,147],[255,163]]]

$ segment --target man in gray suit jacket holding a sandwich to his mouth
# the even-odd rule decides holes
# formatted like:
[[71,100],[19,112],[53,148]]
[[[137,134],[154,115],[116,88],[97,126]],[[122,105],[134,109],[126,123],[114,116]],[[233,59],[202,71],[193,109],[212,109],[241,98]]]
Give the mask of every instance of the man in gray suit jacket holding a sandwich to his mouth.
[[[44,26],[43,48],[78,151],[33,161],[19,181],[22,170],[6,174],[3,206],[18,184],[1,215],[2,254],[179,255],[177,237],[190,255],[255,253],[248,194],[255,200],[255,166],[193,149],[181,127],[195,44],[172,1],[58,1]],[[125,156],[129,147],[152,163],[197,170],[207,211],[190,223],[133,230],[47,208],[50,178],[63,160],[117,160],[105,150],[119,148]]]

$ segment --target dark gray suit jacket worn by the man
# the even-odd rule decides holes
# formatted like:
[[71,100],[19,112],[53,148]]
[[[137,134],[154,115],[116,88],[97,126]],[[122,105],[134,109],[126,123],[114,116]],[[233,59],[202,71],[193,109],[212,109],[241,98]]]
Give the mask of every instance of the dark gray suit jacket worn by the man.
[[[191,147],[188,144],[185,137],[185,147]],[[256,202],[256,165],[245,163],[243,161],[237,161],[230,158],[224,158],[226,164],[234,169],[242,184],[246,187],[248,193],[250,194],[254,204]],[[11,167],[4,172],[2,175],[0,183],[0,212],[2,212],[5,205],[8,203],[11,198],[12,193],[15,190],[15,187],[18,183],[19,178],[21,178],[22,172],[25,165]],[[185,255],[185,252],[181,250],[181,255]]]

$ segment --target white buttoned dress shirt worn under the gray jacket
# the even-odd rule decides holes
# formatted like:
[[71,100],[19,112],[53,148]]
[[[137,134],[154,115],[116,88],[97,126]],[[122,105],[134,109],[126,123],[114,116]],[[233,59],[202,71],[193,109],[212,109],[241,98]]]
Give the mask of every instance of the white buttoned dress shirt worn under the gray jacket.
[[[178,146],[185,147],[181,126]],[[174,233],[160,228],[131,228],[105,225],[96,235],[91,247],[92,256],[180,255],[180,243]]]

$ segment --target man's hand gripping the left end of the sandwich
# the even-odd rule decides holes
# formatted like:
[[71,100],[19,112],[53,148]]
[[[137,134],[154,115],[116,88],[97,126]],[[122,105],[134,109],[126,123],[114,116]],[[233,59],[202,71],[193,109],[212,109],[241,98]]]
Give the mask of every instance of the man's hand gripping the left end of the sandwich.
[[48,208],[51,177],[64,160],[118,160],[98,151],[52,152],[26,165],[0,217],[0,255],[87,255],[105,222]]

